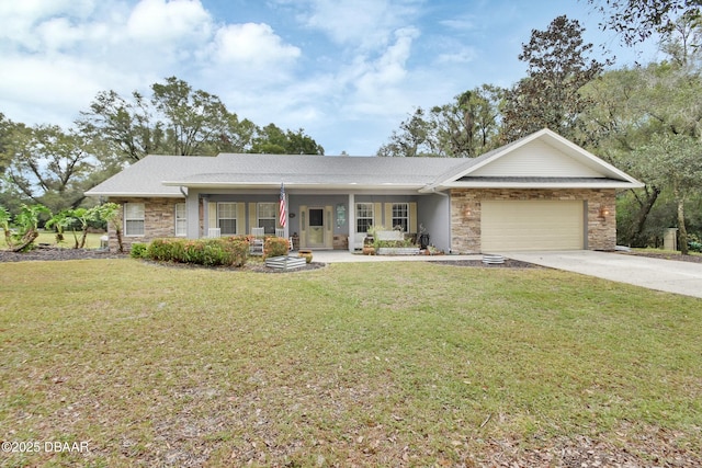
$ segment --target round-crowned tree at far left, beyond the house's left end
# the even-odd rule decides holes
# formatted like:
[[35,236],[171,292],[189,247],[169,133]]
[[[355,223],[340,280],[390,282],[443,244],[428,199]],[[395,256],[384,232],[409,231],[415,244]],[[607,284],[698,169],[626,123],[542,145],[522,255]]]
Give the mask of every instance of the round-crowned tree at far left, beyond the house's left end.
[[53,210],[78,206],[95,171],[87,141],[55,125],[15,127],[8,155],[12,184],[26,198]]

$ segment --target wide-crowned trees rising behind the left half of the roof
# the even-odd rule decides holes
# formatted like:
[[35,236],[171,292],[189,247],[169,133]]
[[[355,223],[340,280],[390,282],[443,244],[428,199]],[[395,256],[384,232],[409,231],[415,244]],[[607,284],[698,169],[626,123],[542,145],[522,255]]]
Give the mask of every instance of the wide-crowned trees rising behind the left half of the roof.
[[149,153],[213,156],[219,152],[324,155],[302,129],[284,132],[274,124],[259,128],[227,110],[214,94],[176,77],[151,85],[151,96],[114,91],[98,94],[76,123],[99,151],[105,171],[136,162]]

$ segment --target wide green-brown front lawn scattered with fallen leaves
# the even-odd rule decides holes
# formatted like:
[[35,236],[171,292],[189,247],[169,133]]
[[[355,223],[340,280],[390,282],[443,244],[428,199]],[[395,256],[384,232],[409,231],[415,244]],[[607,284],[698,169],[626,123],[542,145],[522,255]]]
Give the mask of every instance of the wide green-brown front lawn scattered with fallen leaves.
[[702,461],[700,299],[545,269],[131,259],[3,264],[0,297],[0,440],[90,447],[3,466],[479,466],[584,441]]

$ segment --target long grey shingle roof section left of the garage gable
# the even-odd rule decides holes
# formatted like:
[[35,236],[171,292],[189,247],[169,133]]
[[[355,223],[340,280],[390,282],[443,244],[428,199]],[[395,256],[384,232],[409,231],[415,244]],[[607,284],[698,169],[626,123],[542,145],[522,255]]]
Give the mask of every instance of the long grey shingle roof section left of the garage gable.
[[235,155],[148,156],[93,187],[92,196],[180,196],[180,186],[338,185],[419,190],[458,163],[446,158]]

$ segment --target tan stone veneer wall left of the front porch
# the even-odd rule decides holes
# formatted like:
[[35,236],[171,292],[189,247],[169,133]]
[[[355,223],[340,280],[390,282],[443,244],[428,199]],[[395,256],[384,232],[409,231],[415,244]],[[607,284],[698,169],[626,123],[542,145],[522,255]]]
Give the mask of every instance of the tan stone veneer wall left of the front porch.
[[[150,242],[154,239],[176,236],[176,204],[185,203],[183,198],[110,198],[120,205],[120,216],[124,218],[125,203],[144,204],[144,236],[124,236],[124,220],[122,220],[122,242],[125,251],[133,242]],[[117,237],[113,226],[107,227],[110,250],[117,250]]]

